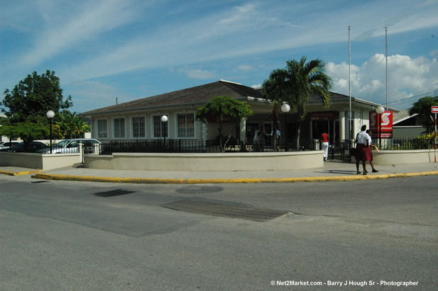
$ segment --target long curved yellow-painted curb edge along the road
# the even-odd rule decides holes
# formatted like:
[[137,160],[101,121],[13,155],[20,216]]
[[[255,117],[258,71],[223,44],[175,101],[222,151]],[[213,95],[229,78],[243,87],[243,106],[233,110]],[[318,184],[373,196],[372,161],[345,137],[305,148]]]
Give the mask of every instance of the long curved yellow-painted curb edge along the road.
[[358,176],[333,176],[333,177],[302,177],[302,178],[248,178],[248,179],[151,179],[151,178],[124,178],[124,177],[92,177],[65,174],[35,174],[34,179],[67,180],[67,181],[93,181],[110,183],[133,184],[249,184],[249,183],[294,183],[294,182],[322,182],[322,181],[356,181],[368,179],[389,179],[404,177],[419,177],[438,175],[438,171],[376,174]]

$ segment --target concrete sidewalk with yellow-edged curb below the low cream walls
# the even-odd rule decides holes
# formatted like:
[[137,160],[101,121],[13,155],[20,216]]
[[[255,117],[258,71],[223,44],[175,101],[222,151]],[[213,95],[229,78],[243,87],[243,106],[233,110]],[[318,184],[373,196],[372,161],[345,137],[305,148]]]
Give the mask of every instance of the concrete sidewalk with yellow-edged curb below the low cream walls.
[[[298,181],[350,181],[438,175],[438,163],[411,165],[376,165],[377,173],[356,174],[356,164],[338,161],[324,162],[323,167],[309,170],[236,171],[236,172],[182,172],[143,170],[96,170],[84,167],[64,167],[41,170],[0,167],[0,173],[34,174],[36,179],[105,181],[138,184],[214,184],[214,183],[273,183]],[[14,172],[15,171],[15,172]],[[360,166],[362,172],[362,167]],[[32,172],[32,173],[31,173]]]

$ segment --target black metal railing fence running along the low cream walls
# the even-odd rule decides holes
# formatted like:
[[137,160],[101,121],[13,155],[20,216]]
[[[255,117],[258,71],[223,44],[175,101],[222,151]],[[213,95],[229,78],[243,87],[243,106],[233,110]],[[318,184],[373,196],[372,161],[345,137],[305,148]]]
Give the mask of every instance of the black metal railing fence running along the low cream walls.
[[[406,138],[406,139],[374,139],[373,144],[380,150],[412,150],[412,149],[434,149],[435,140],[425,138]],[[344,140],[340,147],[330,147],[329,155],[332,158],[349,160],[349,150],[353,145],[352,141]],[[319,150],[319,140],[301,139],[298,151]],[[118,141],[104,144],[85,144],[83,145],[84,154],[112,154],[119,153],[221,153],[221,152],[245,152],[245,151],[296,151],[295,140],[133,140]],[[50,147],[44,144],[29,144],[1,149],[1,151],[29,152],[49,154]],[[78,153],[78,147],[56,147],[52,146],[53,154],[73,154]]]

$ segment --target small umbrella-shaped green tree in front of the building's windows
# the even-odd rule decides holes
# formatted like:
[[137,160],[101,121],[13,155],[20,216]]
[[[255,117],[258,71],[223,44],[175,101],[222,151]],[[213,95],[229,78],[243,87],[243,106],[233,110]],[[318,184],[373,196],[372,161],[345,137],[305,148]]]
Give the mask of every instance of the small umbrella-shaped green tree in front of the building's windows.
[[[248,103],[236,100],[230,96],[217,96],[196,110],[196,119],[203,123],[207,123],[212,119],[218,121],[219,135],[222,135],[224,133],[224,119],[231,119],[235,126],[237,126],[241,119],[247,118],[251,114],[253,114],[253,112]],[[221,136],[219,136],[221,151],[224,151],[226,143],[231,138],[231,134],[232,133],[229,133],[224,147],[222,147]]]

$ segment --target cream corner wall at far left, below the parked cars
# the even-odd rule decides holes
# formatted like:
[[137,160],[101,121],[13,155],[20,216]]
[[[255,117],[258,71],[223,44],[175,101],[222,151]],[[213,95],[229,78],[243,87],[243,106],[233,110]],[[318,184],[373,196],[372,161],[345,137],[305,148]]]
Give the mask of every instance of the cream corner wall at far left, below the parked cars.
[[52,170],[81,163],[80,154],[28,154],[0,152],[0,165]]

